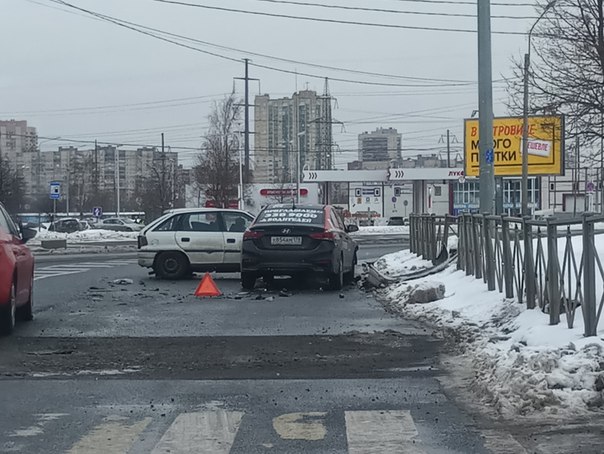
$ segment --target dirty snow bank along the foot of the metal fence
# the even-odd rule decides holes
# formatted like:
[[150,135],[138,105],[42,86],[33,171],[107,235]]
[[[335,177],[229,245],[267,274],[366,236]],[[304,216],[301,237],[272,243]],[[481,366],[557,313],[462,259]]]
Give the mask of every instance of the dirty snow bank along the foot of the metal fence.
[[[396,262],[390,256],[382,260]],[[482,400],[508,416],[604,408],[604,321],[598,336],[586,338],[580,309],[573,329],[564,315],[550,326],[547,314],[489,292],[482,280],[462,271],[449,268],[436,278],[394,284],[380,295],[390,309],[429,320],[455,337],[472,361],[471,387]],[[409,304],[406,299],[413,286],[441,284],[446,289],[441,300]]]

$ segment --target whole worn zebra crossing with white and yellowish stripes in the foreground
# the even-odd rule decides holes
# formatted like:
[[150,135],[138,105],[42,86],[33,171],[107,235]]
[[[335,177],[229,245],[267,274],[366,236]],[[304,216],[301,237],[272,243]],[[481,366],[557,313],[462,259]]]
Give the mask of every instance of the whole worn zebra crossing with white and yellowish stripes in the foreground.
[[[112,408],[115,410],[113,406]],[[272,419],[271,427],[271,423],[263,417],[256,418],[254,414],[246,415],[243,411],[223,408],[175,413],[173,421],[166,420],[165,413],[162,413],[161,419],[155,419],[152,415],[138,417],[126,415],[124,408],[121,409],[122,411],[117,410],[116,413],[105,414],[104,419],[87,428],[87,432],[80,434],[80,438],[71,442],[67,450],[62,452],[64,454],[235,454],[252,452],[253,450],[242,449],[255,446],[276,453],[288,452],[288,447],[296,447],[295,452],[306,452],[300,451],[305,448],[309,452],[331,452],[326,449],[330,447],[337,452],[347,454],[424,454],[433,445],[442,448],[441,443],[444,441],[438,438],[438,432],[429,432],[430,443],[424,444],[419,437],[410,410],[343,411],[343,426],[341,423],[329,425],[329,429],[326,422],[331,412],[273,415],[275,417]],[[13,447],[18,452],[41,452],[26,446],[28,443],[30,446],[39,446],[36,440],[44,439],[47,442],[51,434],[57,433],[56,427],[55,430],[51,430],[51,424],[61,420],[64,426],[65,418],[70,415],[49,413],[33,416],[35,420],[31,426],[13,429],[9,433],[10,442],[4,445],[0,442],[0,451],[5,452],[7,447]],[[341,419],[332,418],[331,421],[333,424],[334,421],[341,421]],[[242,426],[244,428],[240,430]],[[327,436],[329,431],[333,431],[329,437],[331,441]],[[493,454],[527,452],[517,440],[504,431],[482,430],[473,437],[476,438],[472,443],[478,442],[479,445],[482,437],[484,452]],[[338,446],[333,445],[334,440],[338,440]],[[461,446],[465,445],[462,443]],[[325,450],[321,451],[321,448]],[[452,452],[465,452],[463,447],[451,448]]]

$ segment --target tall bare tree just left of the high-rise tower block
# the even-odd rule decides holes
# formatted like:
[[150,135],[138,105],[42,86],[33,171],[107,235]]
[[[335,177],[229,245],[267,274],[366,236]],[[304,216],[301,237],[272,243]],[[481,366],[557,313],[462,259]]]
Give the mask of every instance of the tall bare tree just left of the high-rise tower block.
[[194,167],[194,179],[208,199],[226,208],[237,199],[239,184],[240,104],[231,94],[214,105],[209,115],[209,130]]

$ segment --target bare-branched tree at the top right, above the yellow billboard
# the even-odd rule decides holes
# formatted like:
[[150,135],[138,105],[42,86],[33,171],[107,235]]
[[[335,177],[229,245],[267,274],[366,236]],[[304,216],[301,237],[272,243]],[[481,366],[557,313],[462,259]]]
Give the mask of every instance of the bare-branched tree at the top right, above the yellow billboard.
[[[541,1],[529,71],[529,114],[562,113],[571,136],[593,144],[604,135],[604,0]],[[508,107],[522,112],[522,59],[507,80]]]

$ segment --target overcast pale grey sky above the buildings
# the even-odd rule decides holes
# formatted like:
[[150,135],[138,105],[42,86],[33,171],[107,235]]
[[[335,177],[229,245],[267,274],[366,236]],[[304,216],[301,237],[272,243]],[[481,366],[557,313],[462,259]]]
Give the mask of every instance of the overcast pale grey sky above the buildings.
[[[0,119],[27,120],[39,136],[62,138],[41,138],[43,150],[87,148],[75,141],[94,139],[159,145],[164,132],[166,144],[190,163],[212,103],[233,87],[243,96],[243,82],[234,80],[244,74],[243,58],[252,61],[250,77],[260,79],[250,83],[252,95],[289,97],[306,87],[323,92],[329,78],[337,100],[333,117],[344,124],[334,126],[338,167],[356,157],[357,135],[377,127],[398,129],[404,150],[444,150],[439,139],[447,129],[461,145],[463,119],[477,108],[476,1],[65,1],[133,27],[180,35],[187,40],[161,36],[197,50],[57,0],[0,0]],[[500,79],[526,51],[523,33],[536,13],[530,1],[491,5],[493,78]],[[493,96],[495,115],[507,114],[503,83],[495,83]]]

